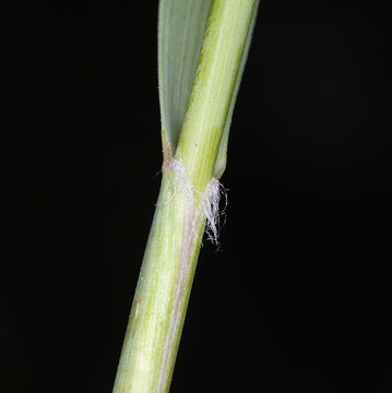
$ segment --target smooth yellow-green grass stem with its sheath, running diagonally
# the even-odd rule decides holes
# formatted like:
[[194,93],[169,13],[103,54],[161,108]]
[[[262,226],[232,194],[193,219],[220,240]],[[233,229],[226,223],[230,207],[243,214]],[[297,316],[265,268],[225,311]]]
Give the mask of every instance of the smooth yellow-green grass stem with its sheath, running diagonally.
[[253,0],[215,0],[173,157],[164,135],[163,180],[114,393],[168,392],[204,230],[213,179]]

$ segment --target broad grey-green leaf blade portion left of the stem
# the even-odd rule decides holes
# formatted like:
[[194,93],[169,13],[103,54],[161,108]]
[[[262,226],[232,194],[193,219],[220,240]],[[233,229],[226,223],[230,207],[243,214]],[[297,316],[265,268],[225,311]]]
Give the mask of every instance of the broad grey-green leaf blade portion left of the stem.
[[164,148],[169,143],[173,153],[187,111],[211,3],[212,0],[159,2],[158,83],[163,143]]

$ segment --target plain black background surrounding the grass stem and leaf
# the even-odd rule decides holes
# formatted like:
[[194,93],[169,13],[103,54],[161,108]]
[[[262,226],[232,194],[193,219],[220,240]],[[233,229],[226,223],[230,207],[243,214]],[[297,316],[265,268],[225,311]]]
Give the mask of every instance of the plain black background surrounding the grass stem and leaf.
[[[0,390],[110,392],[159,187],[157,1],[4,17]],[[171,392],[389,391],[390,24],[262,2]]]

